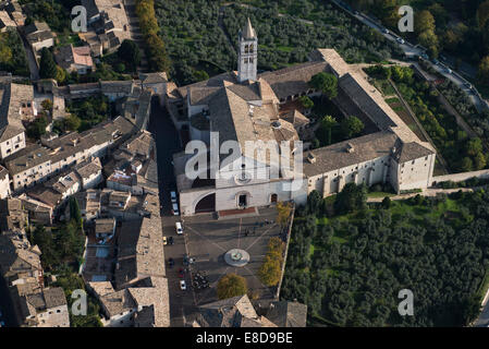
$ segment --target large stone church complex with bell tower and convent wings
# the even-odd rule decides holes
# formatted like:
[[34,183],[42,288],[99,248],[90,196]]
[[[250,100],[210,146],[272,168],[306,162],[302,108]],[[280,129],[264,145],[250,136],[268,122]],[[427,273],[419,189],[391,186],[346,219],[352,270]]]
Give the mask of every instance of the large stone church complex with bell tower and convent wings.
[[[212,158],[224,156],[209,153],[208,166],[197,178],[187,172],[193,154],[173,156],[182,215],[247,209],[279,201],[303,204],[314,190],[328,196],[349,182],[391,183],[396,191],[430,185],[436,151],[337,51],[317,49],[306,63],[258,74],[257,49],[258,37],[248,20],[239,34],[237,71],[188,86],[167,86],[167,108],[191,141],[221,151],[230,142],[237,147],[233,160],[225,166],[221,161],[218,168],[212,167]],[[374,132],[303,152],[301,135],[309,121],[291,106],[301,96],[320,95],[309,86],[320,72],[338,77],[334,103],[339,109],[368,120]],[[279,148],[280,159],[290,160],[285,167],[267,156],[264,144],[270,142],[290,144]],[[249,144],[255,145],[252,152]]]

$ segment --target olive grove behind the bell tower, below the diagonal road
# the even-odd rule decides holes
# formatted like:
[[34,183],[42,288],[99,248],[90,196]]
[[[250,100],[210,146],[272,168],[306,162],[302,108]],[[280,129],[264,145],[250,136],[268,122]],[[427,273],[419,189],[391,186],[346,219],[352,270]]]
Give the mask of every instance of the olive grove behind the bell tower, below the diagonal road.
[[[328,2],[254,1],[249,8],[240,3],[246,1],[222,5],[205,0],[156,0],[169,55],[178,58],[172,76],[180,84],[197,81],[196,71],[206,70],[212,76],[235,70],[237,33],[247,16],[259,37],[260,70],[307,61],[309,52],[319,47],[334,47],[349,62],[381,61],[402,53],[383,36]],[[279,16],[281,12],[286,15]]]

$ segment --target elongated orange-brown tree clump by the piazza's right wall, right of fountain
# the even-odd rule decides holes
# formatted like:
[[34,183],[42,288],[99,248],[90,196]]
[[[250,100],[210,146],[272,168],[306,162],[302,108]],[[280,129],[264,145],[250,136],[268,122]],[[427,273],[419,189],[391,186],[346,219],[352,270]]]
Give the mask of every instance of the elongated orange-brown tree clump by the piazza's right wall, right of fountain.
[[280,238],[271,238],[268,241],[268,250],[264,264],[258,269],[258,277],[265,286],[277,286],[282,275],[283,253],[285,244]]

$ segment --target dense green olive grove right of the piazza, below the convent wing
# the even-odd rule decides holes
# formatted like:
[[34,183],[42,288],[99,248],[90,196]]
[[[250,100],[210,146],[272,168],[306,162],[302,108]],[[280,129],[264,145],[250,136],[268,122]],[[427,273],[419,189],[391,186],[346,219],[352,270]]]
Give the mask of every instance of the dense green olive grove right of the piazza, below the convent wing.
[[[335,202],[358,196],[347,191]],[[335,205],[311,193],[293,226],[281,298],[305,302],[310,323],[464,326],[477,316],[489,267],[487,190],[355,205],[347,219]],[[414,316],[398,312],[402,289],[414,293]]]

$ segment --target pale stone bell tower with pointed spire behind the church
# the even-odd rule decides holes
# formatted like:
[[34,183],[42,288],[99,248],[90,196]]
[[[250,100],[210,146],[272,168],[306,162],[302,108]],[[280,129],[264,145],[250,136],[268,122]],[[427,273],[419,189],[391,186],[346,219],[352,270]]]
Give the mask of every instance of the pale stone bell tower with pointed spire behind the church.
[[240,52],[237,55],[237,81],[240,83],[256,81],[258,64],[258,38],[249,17],[246,26],[240,32]]

